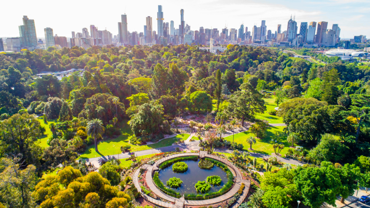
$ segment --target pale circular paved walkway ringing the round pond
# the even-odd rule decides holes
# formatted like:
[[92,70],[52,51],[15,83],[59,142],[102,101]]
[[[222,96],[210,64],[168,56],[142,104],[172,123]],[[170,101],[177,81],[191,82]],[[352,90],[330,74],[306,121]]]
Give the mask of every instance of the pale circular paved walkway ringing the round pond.
[[[195,200],[185,200],[184,197],[178,199],[178,198],[175,198],[175,197],[171,197],[171,196],[169,196],[167,194],[164,194],[154,184],[154,181],[153,181],[153,178],[152,178],[152,175],[153,175],[154,171],[158,170],[158,166],[161,163],[163,163],[164,161],[167,161],[167,160],[172,159],[172,158],[184,157],[184,156],[200,156],[201,158],[208,157],[208,158],[212,158],[212,159],[215,159],[215,160],[218,160],[218,161],[224,163],[225,165],[228,166],[228,168],[230,169],[231,173],[236,178],[236,180],[234,181],[234,186],[231,188],[231,190],[229,192],[225,193],[224,195],[219,196],[219,197],[216,197],[216,198],[213,198],[213,199],[207,199],[207,200],[198,200],[198,201],[195,201]],[[156,204],[156,205],[159,205],[159,206],[162,206],[162,207],[167,207],[168,208],[169,206],[175,206],[176,208],[181,208],[181,207],[184,207],[185,205],[186,206],[206,206],[206,205],[217,204],[217,203],[223,202],[223,201],[225,201],[225,200],[233,197],[234,194],[236,194],[238,192],[238,190],[239,190],[239,188],[240,188],[240,186],[241,186],[242,183],[245,184],[245,189],[246,190],[249,190],[249,184],[250,183],[247,182],[247,181],[245,181],[245,180],[243,181],[243,175],[242,175],[242,173],[239,171],[239,169],[237,167],[235,167],[232,163],[230,163],[229,161],[227,161],[225,159],[222,159],[222,158],[217,157],[215,155],[207,154],[206,152],[203,152],[203,151],[201,151],[200,153],[182,153],[182,154],[171,155],[171,156],[168,156],[168,157],[165,157],[165,158],[162,158],[162,159],[156,161],[156,163],[153,166],[144,165],[141,168],[144,168],[144,169],[148,170],[147,171],[147,174],[145,175],[145,177],[146,177],[146,181],[147,181],[147,184],[148,184],[150,190],[154,194],[156,194],[157,196],[159,196],[160,198],[165,199],[166,201],[169,201],[172,204],[166,203],[166,205],[163,206],[163,202],[158,201],[158,200],[155,200],[155,199],[152,199],[151,197],[149,197],[149,196],[145,195],[144,193],[142,193],[143,197],[145,197],[146,199],[147,198],[151,198],[154,201],[150,200],[150,202],[152,202],[154,204],[156,204],[156,202],[157,203],[159,202],[159,204]],[[137,172],[137,174],[136,174],[136,172]],[[133,180],[134,180],[135,186],[137,188],[139,187],[138,190],[140,191],[141,188],[140,188],[140,185],[139,185],[139,182],[138,182],[138,178],[137,178],[138,175],[139,175],[139,172],[140,172],[140,168],[136,172],[134,174]],[[240,197],[244,197],[244,196],[240,196]],[[173,208],[173,207],[171,207],[171,208]]]

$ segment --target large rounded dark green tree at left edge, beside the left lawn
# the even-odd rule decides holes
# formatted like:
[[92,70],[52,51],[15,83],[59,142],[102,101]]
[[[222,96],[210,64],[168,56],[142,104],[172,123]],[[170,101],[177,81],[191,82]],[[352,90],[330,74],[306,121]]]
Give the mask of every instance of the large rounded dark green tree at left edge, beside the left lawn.
[[21,168],[25,165],[39,167],[42,148],[37,144],[41,137],[40,123],[34,115],[14,114],[0,122],[0,142],[5,154],[21,154]]

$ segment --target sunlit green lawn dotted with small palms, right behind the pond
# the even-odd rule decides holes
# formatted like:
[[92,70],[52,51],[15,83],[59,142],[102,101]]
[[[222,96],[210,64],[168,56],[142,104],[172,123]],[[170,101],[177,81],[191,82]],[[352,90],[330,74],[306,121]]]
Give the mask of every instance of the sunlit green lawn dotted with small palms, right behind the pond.
[[[234,135],[234,142],[243,144],[243,150],[270,155],[274,152],[272,145],[275,143],[275,140],[277,140],[276,143],[282,142],[285,145],[285,148],[280,152],[280,154],[284,155],[287,152],[290,144],[287,141],[287,135],[283,132],[283,129],[283,126],[269,127],[263,139],[256,139],[257,143],[252,145],[252,150],[249,149],[250,145],[247,143],[246,140],[250,136],[255,137],[255,135],[253,134],[250,134],[248,132],[236,134]],[[228,141],[232,141],[232,135],[226,137],[225,139]],[[273,139],[274,141],[272,141],[271,139]]]

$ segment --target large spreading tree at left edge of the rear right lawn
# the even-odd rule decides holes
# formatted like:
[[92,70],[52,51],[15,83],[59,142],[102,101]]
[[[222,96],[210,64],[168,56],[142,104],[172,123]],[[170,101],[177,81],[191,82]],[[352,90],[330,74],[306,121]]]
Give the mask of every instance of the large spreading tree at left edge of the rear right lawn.
[[240,86],[242,91],[236,91],[229,99],[229,104],[226,108],[226,113],[230,117],[252,121],[255,119],[256,113],[263,113],[266,110],[262,95],[255,90],[249,83],[243,83]]

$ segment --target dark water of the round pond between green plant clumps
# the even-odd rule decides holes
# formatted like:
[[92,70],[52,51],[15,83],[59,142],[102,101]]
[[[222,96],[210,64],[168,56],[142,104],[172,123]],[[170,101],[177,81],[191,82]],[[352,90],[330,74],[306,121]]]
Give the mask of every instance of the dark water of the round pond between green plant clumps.
[[[204,170],[198,167],[198,161],[186,160],[183,161],[187,164],[187,171],[185,173],[176,173],[172,171],[172,166],[169,166],[159,172],[159,180],[162,181],[164,185],[167,184],[168,179],[171,177],[178,177],[183,181],[183,184],[179,188],[171,188],[179,193],[190,194],[196,193],[195,183],[198,181],[205,181],[207,176],[218,175],[221,177],[222,182],[220,186],[212,186],[208,193],[219,191],[222,186],[227,183],[227,174],[220,167],[214,166],[211,170]],[[170,188],[166,185],[167,188]],[[200,194],[200,193],[199,193]]]

